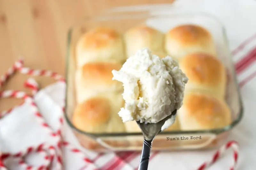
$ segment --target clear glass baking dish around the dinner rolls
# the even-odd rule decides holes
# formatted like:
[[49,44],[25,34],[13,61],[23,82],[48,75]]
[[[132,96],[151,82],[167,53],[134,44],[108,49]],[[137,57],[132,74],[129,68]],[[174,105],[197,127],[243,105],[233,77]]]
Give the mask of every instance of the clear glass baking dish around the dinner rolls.
[[[212,34],[217,48],[218,58],[227,68],[228,83],[226,102],[232,112],[232,123],[221,129],[204,131],[163,131],[154,139],[154,147],[152,149],[204,149],[222,145],[228,137],[230,130],[241,120],[243,115],[241,96],[223,25],[218,19],[206,13],[179,12],[177,14],[150,14],[148,11],[109,12],[97,17],[85,18],[84,21],[69,30],[66,59],[67,89],[65,118],[80,144],[84,148],[99,152],[109,150],[141,150],[143,142],[142,133],[88,133],[77,129],[72,124],[71,117],[76,106],[75,46],[78,39],[86,30],[90,30],[96,26],[108,26],[124,33],[127,29],[143,23],[162,32],[167,32],[169,29],[179,24],[197,24],[206,28]],[[170,140],[176,137],[184,137],[185,139],[187,138],[187,140]],[[200,140],[190,140],[191,137],[200,137]],[[167,140],[167,138],[169,138],[169,140]]]

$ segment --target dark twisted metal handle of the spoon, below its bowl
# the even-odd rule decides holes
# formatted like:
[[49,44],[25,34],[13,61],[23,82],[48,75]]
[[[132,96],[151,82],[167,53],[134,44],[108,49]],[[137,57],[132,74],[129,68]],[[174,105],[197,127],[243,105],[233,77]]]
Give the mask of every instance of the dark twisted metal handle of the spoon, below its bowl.
[[143,141],[141,156],[140,156],[140,165],[138,170],[147,170],[148,169],[148,161],[151,152],[151,145],[153,140],[146,140]]

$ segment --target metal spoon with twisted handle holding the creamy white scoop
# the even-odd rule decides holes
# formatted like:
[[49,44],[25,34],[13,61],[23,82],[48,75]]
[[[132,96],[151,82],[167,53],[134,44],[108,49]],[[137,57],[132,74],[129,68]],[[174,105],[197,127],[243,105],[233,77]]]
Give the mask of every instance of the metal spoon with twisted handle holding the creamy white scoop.
[[143,133],[144,141],[140,156],[140,165],[138,170],[147,170],[148,169],[148,161],[151,152],[152,142],[156,135],[161,132],[161,128],[164,125],[165,121],[170,119],[172,116],[176,115],[177,110],[174,110],[170,116],[167,116],[163,120],[158,123],[145,124],[137,121],[137,124],[140,127],[140,130]]

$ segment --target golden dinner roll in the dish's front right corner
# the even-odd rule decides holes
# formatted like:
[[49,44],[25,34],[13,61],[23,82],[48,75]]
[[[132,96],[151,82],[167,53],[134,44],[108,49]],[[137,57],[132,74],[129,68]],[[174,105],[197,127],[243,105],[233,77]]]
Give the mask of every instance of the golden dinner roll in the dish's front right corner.
[[186,94],[177,114],[181,130],[210,130],[231,123],[227,103],[205,93]]

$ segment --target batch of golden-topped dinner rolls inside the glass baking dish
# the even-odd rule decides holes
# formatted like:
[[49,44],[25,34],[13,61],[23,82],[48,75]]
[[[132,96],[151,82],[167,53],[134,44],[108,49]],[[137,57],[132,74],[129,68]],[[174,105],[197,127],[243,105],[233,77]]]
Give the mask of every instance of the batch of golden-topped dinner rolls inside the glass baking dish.
[[178,25],[167,33],[140,25],[124,34],[98,27],[86,32],[76,45],[76,128],[91,133],[140,132],[135,121],[123,123],[121,82],[113,69],[141,48],[159,57],[171,56],[188,76],[183,106],[175,123],[164,131],[222,128],[231,123],[226,94],[226,69],[218,59],[210,32],[198,25]]

